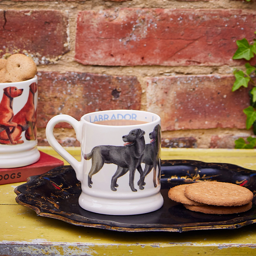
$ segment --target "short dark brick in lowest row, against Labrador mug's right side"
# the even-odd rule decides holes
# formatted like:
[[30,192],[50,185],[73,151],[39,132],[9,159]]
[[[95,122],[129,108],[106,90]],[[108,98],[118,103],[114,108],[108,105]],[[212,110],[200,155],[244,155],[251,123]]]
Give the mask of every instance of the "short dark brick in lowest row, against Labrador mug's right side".
[[194,137],[180,137],[180,138],[163,138],[163,148],[197,148],[196,139]]

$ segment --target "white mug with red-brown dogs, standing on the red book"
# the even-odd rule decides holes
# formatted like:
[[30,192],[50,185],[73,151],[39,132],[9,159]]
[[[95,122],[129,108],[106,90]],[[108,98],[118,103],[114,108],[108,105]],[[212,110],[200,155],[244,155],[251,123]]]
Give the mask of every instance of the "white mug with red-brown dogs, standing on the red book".
[[0,168],[33,164],[37,149],[37,76],[30,80],[0,83]]

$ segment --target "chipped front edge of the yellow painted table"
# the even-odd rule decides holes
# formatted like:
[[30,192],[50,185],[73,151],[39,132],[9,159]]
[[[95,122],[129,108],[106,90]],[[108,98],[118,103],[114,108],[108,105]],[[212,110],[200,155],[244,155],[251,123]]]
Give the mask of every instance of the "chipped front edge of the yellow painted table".
[[224,256],[248,255],[255,256],[255,246],[248,244],[211,244],[200,246],[197,243],[174,243],[152,245],[122,244],[0,244],[0,255],[11,256]]

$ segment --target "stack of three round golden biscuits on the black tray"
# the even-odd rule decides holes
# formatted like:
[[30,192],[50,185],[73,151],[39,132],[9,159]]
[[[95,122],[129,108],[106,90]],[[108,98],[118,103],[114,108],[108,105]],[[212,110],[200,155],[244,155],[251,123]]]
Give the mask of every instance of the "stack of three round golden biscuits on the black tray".
[[171,188],[170,199],[188,210],[206,214],[234,214],[252,208],[253,193],[245,187],[217,181],[182,184]]

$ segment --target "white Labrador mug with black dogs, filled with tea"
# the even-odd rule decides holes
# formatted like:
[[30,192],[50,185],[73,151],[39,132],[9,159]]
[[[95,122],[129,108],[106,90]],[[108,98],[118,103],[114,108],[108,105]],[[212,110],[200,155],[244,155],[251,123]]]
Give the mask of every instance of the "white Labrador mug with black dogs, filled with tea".
[[[81,161],[56,140],[59,122],[72,125]],[[82,116],[62,114],[46,126],[49,144],[74,168],[81,181],[79,205],[100,214],[132,215],[158,210],[160,194],[160,117],[139,110],[106,110]]]

